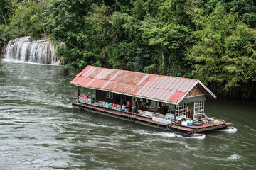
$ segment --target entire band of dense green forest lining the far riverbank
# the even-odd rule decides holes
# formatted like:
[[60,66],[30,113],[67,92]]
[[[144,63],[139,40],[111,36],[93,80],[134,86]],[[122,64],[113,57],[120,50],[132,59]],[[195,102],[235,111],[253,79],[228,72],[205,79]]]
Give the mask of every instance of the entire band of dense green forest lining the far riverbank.
[[191,77],[223,96],[256,96],[254,0],[0,4],[0,43],[14,35],[48,35],[66,67],[91,64]]

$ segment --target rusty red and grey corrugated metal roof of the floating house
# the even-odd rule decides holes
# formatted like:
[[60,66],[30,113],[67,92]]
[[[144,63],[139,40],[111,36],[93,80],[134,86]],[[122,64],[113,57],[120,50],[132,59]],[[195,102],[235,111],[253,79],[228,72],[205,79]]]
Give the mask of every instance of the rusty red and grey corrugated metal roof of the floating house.
[[93,66],[85,67],[70,83],[173,104],[180,103],[196,84],[201,84],[208,94],[215,98],[214,94],[197,79]]

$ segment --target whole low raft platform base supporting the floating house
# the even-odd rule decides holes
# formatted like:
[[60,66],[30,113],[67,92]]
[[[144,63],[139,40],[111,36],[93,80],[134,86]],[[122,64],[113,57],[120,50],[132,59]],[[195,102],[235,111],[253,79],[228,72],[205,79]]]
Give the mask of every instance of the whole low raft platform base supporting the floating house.
[[140,115],[137,115],[137,113],[131,113],[131,112],[122,113],[121,111],[114,111],[112,109],[101,108],[101,107],[92,106],[92,105],[80,103],[80,102],[74,102],[72,103],[72,106],[73,108],[78,108],[82,111],[89,111],[92,113],[107,115],[112,118],[119,118],[122,120],[131,121],[132,123],[139,123],[142,125],[159,128],[161,130],[178,130],[178,131],[181,130],[183,132],[186,132],[188,135],[193,135],[195,133],[205,132],[208,130],[223,129],[232,125],[232,123],[225,123],[225,122],[203,124],[203,125],[192,125],[192,126],[184,126],[176,123],[175,125],[171,125],[171,128],[169,128],[165,123],[159,123],[159,122],[153,121],[151,118],[142,117]]

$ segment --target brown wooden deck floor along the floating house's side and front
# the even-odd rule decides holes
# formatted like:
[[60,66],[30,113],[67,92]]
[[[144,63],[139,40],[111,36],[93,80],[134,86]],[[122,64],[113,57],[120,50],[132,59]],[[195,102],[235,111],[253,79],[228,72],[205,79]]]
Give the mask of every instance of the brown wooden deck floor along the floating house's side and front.
[[[79,106],[80,104],[82,104],[82,106],[84,106],[85,108],[90,108],[92,110],[101,111],[103,113],[110,113],[113,115],[119,115],[119,116],[131,118],[131,119],[134,118],[134,120],[137,120],[137,121],[143,121],[145,123],[149,123],[149,124],[151,123],[151,124],[154,124],[157,126],[160,125],[162,127],[166,127],[166,124],[164,124],[164,123],[159,123],[159,122],[153,121],[150,118],[145,118],[145,117],[139,116],[136,113],[130,113],[130,112],[122,113],[121,111],[115,111],[115,110],[107,109],[107,108],[100,108],[100,107],[91,106],[91,105],[88,105],[85,103],[77,103],[77,102],[73,103],[73,105],[75,105],[75,106]],[[203,125],[199,125],[199,126],[196,126],[196,125],[183,126],[183,125],[176,124],[176,125],[172,125],[172,128],[177,129],[177,130],[186,131],[186,132],[188,132],[188,134],[193,134],[195,132],[203,132],[203,131],[207,131],[207,130],[225,128],[225,127],[228,127],[229,125],[232,125],[232,123],[219,122],[219,123],[203,124]]]

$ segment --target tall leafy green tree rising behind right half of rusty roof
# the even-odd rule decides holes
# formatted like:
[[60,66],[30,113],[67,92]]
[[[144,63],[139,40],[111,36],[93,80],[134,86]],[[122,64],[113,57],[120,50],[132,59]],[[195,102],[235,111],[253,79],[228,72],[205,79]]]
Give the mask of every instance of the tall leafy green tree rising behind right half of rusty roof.
[[183,54],[190,40],[191,23],[178,17],[180,13],[186,13],[185,2],[164,1],[159,6],[159,13],[154,16],[148,14],[141,21],[142,40],[154,47],[156,53],[154,64],[146,69],[158,70],[159,74],[189,77],[190,69]]

